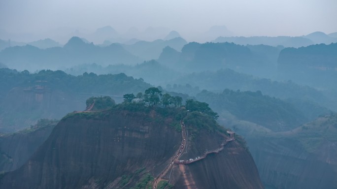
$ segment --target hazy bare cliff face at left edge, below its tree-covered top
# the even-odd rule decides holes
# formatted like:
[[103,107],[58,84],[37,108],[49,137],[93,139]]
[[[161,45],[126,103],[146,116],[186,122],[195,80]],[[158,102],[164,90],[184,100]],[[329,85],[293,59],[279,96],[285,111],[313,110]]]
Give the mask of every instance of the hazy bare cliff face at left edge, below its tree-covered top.
[[0,101],[0,131],[16,132],[42,118],[61,119],[65,112],[85,109],[88,96],[43,86],[13,88]]

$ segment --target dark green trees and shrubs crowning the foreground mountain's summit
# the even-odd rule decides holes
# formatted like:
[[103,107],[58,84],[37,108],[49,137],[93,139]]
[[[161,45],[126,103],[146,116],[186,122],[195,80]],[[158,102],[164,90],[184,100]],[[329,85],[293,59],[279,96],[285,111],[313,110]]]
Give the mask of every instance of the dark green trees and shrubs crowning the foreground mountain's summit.
[[[146,95],[148,95],[146,97]],[[152,95],[152,96],[151,96]],[[199,130],[207,130],[214,132],[217,130],[223,131],[223,128],[218,125],[216,119],[219,117],[207,103],[200,102],[194,99],[187,99],[183,105],[180,96],[171,96],[169,94],[161,94],[158,88],[151,87],[145,90],[144,95],[139,92],[136,96],[134,94],[125,94],[124,102],[120,104],[112,103],[112,99],[108,96],[90,97],[87,99],[87,107],[89,107],[95,100],[98,107],[93,109],[93,112],[73,112],[69,113],[63,119],[72,116],[86,117],[87,119],[100,119],[108,115],[109,111],[130,111],[130,112],[143,112],[150,113],[155,111],[156,114],[161,115],[157,117],[158,124],[165,122],[167,118],[173,118],[175,124],[172,127],[181,131],[180,121],[193,125],[196,134]],[[173,101],[170,101],[172,99]],[[178,103],[174,100],[178,99]],[[110,103],[111,102],[111,103]],[[166,104],[167,103],[167,104]],[[178,105],[176,105],[178,104]],[[107,111],[94,111],[94,110],[107,110]]]

